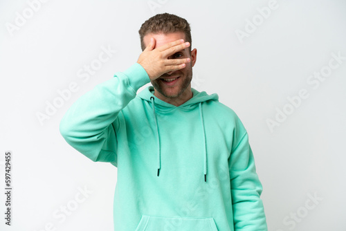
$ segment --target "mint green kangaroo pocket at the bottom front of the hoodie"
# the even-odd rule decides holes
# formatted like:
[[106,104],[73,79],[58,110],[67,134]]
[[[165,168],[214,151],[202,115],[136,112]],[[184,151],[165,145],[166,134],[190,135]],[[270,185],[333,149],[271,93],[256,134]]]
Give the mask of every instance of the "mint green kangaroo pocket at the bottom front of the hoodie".
[[212,217],[142,215],[136,231],[217,231]]

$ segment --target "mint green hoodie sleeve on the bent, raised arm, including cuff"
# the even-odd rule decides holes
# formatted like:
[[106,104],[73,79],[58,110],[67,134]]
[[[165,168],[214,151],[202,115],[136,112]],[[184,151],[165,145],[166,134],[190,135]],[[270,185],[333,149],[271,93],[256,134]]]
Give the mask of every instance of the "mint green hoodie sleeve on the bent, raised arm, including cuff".
[[149,82],[147,72],[138,63],[116,73],[73,103],[60,122],[60,133],[87,158],[117,166],[113,122],[136,97],[138,89]]

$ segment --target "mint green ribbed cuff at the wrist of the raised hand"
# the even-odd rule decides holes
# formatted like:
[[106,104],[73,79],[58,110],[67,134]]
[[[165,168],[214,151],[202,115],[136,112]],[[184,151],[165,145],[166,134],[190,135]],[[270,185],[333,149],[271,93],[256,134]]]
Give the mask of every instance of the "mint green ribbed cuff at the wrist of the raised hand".
[[138,63],[130,66],[126,71],[123,71],[122,73],[127,76],[129,85],[134,89],[134,91],[138,91],[141,86],[144,86],[145,84],[150,82],[149,75],[147,74],[143,66]]

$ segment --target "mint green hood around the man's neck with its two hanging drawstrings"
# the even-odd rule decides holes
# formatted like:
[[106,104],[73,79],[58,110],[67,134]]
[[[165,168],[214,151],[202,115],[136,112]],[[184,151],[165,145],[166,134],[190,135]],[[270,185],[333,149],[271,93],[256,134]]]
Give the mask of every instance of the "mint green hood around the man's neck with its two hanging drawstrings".
[[152,113],[154,117],[155,127],[156,127],[156,140],[157,140],[157,176],[160,176],[161,171],[161,143],[160,143],[160,133],[159,133],[159,124],[157,122],[156,118],[156,112],[158,113],[165,113],[167,111],[171,111],[176,108],[180,108],[184,111],[192,111],[196,107],[199,107],[199,118],[201,121],[201,127],[203,130],[203,136],[201,136],[201,139],[203,139],[203,145],[204,145],[204,153],[201,154],[204,159],[204,167],[203,167],[203,174],[204,174],[204,181],[207,181],[207,163],[208,163],[208,156],[207,156],[207,149],[206,149],[206,131],[204,129],[204,120],[203,120],[203,102],[208,102],[210,100],[212,101],[219,101],[219,96],[214,93],[212,95],[208,95],[205,91],[199,92],[196,89],[191,88],[191,91],[193,93],[192,98],[190,100],[186,101],[185,103],[181,104],[180,106],[175,106],[173,104],[167,103],[163,100],[160,100],[156,96],[154,96],[154,86],[148,86],[146,89],[138,93],[138,97],[142,100],[147,101],[149,104],[151,104],[152,107]]

